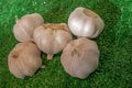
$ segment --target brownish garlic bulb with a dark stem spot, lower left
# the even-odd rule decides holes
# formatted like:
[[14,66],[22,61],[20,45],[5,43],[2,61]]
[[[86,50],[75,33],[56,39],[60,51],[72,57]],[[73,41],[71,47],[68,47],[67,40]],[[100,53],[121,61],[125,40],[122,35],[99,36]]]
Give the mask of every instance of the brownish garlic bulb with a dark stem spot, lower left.
[[19,43],[8,56],[9,70],[16,78],[32,76],[41,66],[41,51],[32,42]]

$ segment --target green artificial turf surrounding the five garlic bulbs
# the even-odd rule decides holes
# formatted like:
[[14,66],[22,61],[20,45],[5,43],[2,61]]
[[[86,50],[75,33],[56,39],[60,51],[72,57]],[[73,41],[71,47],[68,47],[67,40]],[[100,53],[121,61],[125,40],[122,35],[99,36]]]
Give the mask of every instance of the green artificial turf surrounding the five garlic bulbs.
[[[8,69],[8,54],[18,43],[12,33],[15,15],[40,13],[45,23],[66,22],[77,7],[97,12],[105,21],[95,38],[100,50],[99,67],[86,79],[66,74],[61,53],[34,76],[18,79]],[[0,0],[0,88],[132,88],[132,0]]]

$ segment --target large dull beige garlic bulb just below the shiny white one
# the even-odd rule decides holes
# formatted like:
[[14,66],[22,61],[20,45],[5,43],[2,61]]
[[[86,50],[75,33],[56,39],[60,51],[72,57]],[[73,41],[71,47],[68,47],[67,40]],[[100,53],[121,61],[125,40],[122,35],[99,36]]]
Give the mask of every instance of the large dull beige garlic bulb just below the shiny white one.
[[64,48],[61,62],[66,73],[84,79],[98,67],[98,46],[86,37],[74,40]]

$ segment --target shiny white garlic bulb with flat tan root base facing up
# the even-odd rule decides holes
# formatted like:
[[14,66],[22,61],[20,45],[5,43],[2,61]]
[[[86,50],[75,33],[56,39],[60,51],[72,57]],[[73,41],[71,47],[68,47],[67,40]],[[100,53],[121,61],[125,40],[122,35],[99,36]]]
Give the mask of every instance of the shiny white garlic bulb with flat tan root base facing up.
[[101,33],[105,23],[97,13],[80,7],[70,13],[68,26],[74,35],[94,38]]

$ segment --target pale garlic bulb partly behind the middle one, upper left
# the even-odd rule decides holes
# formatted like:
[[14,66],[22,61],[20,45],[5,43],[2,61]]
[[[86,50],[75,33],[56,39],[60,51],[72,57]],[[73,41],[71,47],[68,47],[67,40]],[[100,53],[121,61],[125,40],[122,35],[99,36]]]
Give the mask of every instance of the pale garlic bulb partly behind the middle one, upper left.
[[20,42],[33,41],[33,31],[43,23],[44,20],[38,13],[26,14],[20,20],[16,19],[16,23],[13,26],[13,34]]

